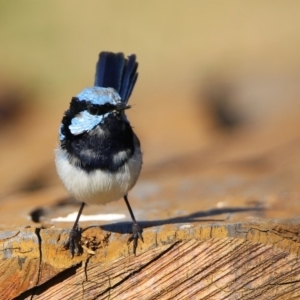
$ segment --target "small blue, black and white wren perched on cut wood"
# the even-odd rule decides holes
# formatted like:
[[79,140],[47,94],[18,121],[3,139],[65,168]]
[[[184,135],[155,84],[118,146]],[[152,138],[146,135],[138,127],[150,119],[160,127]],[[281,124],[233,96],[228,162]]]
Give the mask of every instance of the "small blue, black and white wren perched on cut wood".
[[79,219],[85,204],[125,200],[133,225],[128,244],[136,255],[143,240],[128,200],[142,168],[140,141],[125,114],[138,78],[136,55],[100,52],[94,86],[72,97],[59,128],[55,149],[58,176],[70,195],[81,202],[64,248],[72,257],[82,253]]

